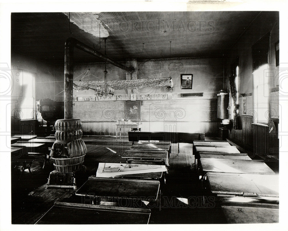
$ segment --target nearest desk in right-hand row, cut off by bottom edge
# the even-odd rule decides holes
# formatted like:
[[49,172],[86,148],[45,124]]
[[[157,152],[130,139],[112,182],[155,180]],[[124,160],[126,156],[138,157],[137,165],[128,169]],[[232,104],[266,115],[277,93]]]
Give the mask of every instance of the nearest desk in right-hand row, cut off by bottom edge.
[[226,203],[221,209],[228,224],[278,223],[279,205]]

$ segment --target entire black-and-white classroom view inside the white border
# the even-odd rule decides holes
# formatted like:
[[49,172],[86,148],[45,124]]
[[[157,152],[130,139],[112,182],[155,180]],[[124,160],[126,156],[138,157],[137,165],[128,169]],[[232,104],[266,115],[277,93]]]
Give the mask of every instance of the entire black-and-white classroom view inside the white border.
[[11,66],[12,224],[279,222],[279,12],[12,13]]

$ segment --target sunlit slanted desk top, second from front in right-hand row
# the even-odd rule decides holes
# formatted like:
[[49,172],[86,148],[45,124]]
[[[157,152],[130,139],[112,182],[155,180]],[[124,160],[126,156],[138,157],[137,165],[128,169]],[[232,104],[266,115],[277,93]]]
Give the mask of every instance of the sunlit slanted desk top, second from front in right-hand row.
[[278,174],[207,173],[211,192],[246,196],[279,196]]

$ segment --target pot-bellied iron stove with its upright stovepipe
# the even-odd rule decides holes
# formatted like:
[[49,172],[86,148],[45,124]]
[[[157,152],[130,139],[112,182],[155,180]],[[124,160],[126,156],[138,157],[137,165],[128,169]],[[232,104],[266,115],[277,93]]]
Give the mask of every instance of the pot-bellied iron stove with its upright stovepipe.
[[[73,41],[73,39],[72,39]],[[75,173],[83,166],[87,152],[82,140],[82,123],[73,119],[73,49],[71,39],[65,43],[64,119],[55,122],[55,138],[50,156],[55,170],[48,178],[47,187],[76,189]]]

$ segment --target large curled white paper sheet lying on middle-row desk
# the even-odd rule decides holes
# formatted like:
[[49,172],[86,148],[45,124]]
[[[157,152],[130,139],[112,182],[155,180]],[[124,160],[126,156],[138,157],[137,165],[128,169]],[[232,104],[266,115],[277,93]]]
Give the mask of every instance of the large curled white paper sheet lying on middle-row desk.
[[[111,172],[108,169],[120,169],[119,171]],[[119,175],[140,174],[140,173],[156,173],[166,172],[165,165],[152,164],[118,164],[118,163],[99,163],[96,177],[115,177]]]

